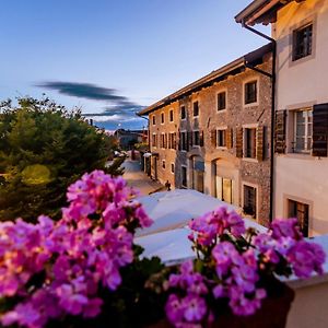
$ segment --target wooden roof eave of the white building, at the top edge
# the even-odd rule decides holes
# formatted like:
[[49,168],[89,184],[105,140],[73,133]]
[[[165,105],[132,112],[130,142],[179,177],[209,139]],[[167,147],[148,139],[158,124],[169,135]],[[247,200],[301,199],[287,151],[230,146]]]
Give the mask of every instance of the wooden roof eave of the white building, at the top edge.
[[278,10],[293,1],[304,0],[254,0],[235,16],[235,21],[247,25],[273,23],[277,21]]

